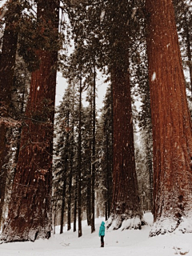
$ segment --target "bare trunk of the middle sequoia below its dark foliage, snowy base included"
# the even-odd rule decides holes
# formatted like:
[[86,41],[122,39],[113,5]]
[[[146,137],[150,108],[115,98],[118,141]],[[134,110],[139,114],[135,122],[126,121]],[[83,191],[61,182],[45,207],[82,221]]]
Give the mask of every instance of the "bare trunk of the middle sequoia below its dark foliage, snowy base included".
[[113,229],[121,226],[122,229],[137,229],[142,226],[134,160],[134,132],[127,62],[128,59],[125,66],[115,67],[112,74],[114,184],[111,215],[107,226],[112,225]]

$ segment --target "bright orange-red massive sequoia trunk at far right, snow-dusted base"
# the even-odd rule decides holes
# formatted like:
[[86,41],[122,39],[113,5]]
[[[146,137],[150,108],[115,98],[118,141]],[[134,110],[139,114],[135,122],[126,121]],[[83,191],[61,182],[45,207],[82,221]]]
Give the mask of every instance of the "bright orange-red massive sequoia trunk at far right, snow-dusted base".
[[192,232],[190,114],[171,0],[146,0],[147,52],[154,141],[151,236]]

